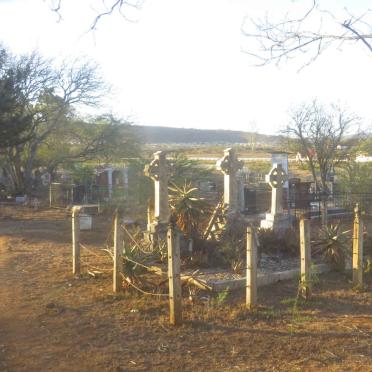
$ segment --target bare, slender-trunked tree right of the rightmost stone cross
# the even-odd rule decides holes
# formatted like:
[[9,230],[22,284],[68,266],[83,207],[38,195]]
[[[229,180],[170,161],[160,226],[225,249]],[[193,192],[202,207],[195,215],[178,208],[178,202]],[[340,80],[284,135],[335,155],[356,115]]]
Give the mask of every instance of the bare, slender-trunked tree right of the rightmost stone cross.
[[345,153],[339,149],[345,132],[357,117],[338,106],[325,108],[316,101],[303,104],[291,113],[287,134],[304,153],[317,192],[321,195],[322,221],[327,222],[329,175]]

